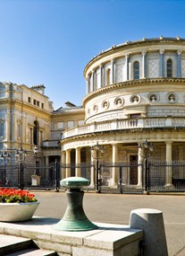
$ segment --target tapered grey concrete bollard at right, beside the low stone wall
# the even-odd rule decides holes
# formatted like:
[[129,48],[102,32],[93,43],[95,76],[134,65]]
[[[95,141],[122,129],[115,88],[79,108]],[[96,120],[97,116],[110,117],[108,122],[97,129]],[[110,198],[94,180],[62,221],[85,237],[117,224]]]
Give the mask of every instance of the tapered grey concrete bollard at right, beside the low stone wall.
[[168,256],[162,211],[149,208],[132,210],[130,227],[144,231],[145,256]]

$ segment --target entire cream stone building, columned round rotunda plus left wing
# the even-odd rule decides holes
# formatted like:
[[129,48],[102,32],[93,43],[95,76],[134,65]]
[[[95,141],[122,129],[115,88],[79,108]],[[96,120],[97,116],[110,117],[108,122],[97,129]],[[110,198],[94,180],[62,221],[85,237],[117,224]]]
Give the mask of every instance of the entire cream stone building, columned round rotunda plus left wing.
[[[185,40],[156,38],[126,41],[101,51],[85,66],[86,95],[82,106],[66,102],[53,109],[44,85],[29,88],[0,84],[1,150],[27,149],[36,165],[60,164],[60,178],[87,177],[96,186],[97,156],[103,163],[143,163],[144,158],[182,161],[185,157]],[[154,147],[145,153],[146,141]],[[34,147],[38,146],[37,154]],[[82,166],[90,166],[89,169]],[[143,186],[143,169],[128,168],[128,185]],[[88,171],[87,171],[88,170]],[[31,171],[32,172],[32,171]],[[49,169],[43,173],[49,180]],[[27,172],[28,177],[30,172]],[[105,185],[116,187],[117,167]],[[165,185],[172,184],[172,170]]]

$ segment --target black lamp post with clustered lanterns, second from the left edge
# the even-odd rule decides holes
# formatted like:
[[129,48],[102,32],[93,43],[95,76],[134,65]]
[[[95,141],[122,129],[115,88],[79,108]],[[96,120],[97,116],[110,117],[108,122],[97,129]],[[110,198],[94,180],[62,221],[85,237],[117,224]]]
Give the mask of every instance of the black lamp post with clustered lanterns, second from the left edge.
[[26,154],[27,154],[27,151],[22,149],[22,147],[20,149],[17,149],[16,150],[16,158],[17,160],[19,161],[19,169],[20,169],[20,175],[19,175],[19,189],[23,190],[24,188],[24,166],[22,164],[22,161],[25,161],[26,159]]

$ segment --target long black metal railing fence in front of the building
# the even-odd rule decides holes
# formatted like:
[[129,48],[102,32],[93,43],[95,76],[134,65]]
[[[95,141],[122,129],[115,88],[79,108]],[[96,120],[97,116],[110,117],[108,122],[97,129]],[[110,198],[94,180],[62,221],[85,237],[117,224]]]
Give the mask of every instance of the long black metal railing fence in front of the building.
[[[22,168],[22,169],[21,169]],[[38,181],[33,175],[39,176]],[[67,174],[67,175],[66,175]],[[78,175],[77,175],[78,174]],[[144,163],[82,163],[49,167],[35,164],[0,166],[0,186],[25,189],[58,190],[66,176],[80,176],[94,184],[89,190],[102,193],[143,193],[144,191],[185,192],[185,161],[171,163],[149,161]],[[139,182],[140,181],[140,182]],[[98,185],[98,186],[97,186]]]

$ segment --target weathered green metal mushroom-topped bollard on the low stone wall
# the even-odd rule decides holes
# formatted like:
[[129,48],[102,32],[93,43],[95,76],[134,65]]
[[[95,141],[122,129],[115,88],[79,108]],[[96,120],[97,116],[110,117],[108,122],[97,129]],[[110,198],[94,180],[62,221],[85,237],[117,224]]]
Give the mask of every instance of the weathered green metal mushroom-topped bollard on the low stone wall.
[[63,179],[60,184],[67,188],[68,205],[63,218],[54,225],[54,229],[70,232],[97,229],[97,225],[88,220],[83,210],[84,191],[81,188],[88,186],[89,181],[81,177],[70,177]]

